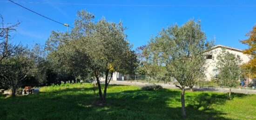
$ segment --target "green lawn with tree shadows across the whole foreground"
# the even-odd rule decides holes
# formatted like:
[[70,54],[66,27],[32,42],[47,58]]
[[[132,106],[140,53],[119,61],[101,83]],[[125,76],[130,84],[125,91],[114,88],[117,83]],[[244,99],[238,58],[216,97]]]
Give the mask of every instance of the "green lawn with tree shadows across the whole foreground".
[[[166,120],[182,119],[180,90],[145,91],[110,85],[107,105],[97,106],[92,84],[61,84],[40,88],[40,94],[0,96],[1,120]],[[214,92],[185,93],[188,120],[256,119],[256,95]]]

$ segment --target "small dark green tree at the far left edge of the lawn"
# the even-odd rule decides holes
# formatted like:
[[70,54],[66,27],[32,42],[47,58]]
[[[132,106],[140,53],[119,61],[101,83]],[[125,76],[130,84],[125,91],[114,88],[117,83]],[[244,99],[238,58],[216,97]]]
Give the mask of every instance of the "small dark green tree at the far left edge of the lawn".
[[3,86],[12,90],[12,96],[16,95],[17,89],[21,87],[28,76],[33,76],[34,59],[27,49],[13,53],[0,62],[0,80]]

